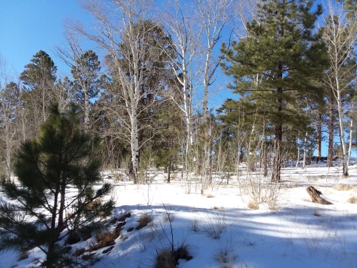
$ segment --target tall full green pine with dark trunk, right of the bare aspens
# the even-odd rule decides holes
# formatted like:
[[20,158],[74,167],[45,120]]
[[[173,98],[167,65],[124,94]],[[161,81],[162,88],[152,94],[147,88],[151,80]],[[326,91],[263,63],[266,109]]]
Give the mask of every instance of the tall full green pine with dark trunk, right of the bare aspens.
[[235,92],[246,110],[264,114],[274,128],[272,181],[280,182],[284,126],[306,126],[305,116],[293,109],[300,99],[322,98],[317,86],[327,65],[321,33],[313,34],[321,5],[312,1],[264,0],[258,20],[248,22],[248,37],[222,48],[223,69],[233,75]]

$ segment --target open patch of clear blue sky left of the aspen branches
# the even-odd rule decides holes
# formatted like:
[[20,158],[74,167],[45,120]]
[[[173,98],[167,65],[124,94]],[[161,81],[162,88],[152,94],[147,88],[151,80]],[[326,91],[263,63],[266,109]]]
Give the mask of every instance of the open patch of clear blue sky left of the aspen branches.
[[69,16],[90,18],[76,0],[0,0],[0,54],[19,74],[43,50],[61,73],[65,67],[53,51],[64,44],[62,24]]

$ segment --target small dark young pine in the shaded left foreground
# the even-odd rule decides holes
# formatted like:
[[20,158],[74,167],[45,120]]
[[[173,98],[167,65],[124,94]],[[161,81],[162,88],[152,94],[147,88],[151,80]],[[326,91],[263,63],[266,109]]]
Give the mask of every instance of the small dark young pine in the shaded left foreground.
[[103,199],[110,184],[101,182],[100,145],[80,129],[81,110],[70,104],[63,113],[52,106],[37,139],[21,144],[14,174],[19,183],[3,179],[1,192],[12,202],[0,204],[0,247],[46,254],[45,267],[74,267],[59,241],[79,241],[81,233],[103,227],[114,201]]

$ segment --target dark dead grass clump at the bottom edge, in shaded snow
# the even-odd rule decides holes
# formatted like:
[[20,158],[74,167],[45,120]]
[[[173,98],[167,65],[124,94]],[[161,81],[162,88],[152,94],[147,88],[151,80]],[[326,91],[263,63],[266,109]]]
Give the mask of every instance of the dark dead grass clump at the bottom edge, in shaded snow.
[[189,261],[192,257],[187,248],[187,245],[181,245],[174,252],[167,249],[161,250],[157,254],[155,268],[175,268],[178,264],[178,259]]

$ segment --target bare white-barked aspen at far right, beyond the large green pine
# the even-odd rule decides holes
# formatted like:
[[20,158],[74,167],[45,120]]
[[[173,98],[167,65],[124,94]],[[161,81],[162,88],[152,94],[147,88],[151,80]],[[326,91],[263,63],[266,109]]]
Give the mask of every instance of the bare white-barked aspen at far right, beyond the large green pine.
[[[328,44],[330,69],[326,71],[326,84],[333,92],[338,111],[338,127],[343,153],[343,176],[348,177],[348,148],[343,126],[343,91],[356,81],[356,59],[353,51],[357,41],[355,16],[345,16],[340,4],[328,4],[328,17],[324,38]],[[355,11],[356,13],[356,11]]]

